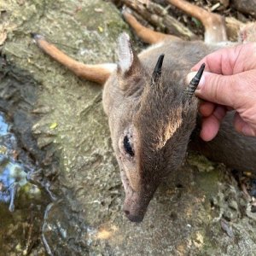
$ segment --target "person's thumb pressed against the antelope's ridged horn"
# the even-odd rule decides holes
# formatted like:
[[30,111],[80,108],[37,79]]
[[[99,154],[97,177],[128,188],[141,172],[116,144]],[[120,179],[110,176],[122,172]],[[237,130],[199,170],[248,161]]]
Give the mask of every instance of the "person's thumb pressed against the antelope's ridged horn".
[[[195,72],[189,73],[187,81],[195,77]],[[204,72],[195,95],[207,102],[233,107],[236,90],[234,76],[224,76],[216,73]]]

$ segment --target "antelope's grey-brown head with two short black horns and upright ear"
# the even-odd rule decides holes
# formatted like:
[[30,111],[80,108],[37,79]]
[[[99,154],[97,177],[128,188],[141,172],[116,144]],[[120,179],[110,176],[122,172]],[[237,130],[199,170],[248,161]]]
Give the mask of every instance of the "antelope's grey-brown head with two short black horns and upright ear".
[[117,72],[104,92],[125,188],[124,212],[135,222],[143,220],[161,181],[183,162],[195,127],[197,99],[193,94],[203,67],[184,90],[175,77],[164,82],[162,65],[164,55],[160,55],[154,72],[149,73],[133,51],[128,35],[121,34]]

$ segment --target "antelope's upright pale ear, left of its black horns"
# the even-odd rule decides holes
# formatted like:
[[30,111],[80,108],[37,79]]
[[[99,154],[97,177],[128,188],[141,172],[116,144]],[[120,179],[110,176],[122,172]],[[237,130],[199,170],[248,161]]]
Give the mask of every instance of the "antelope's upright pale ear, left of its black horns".
[[129,73],[137,67],[139,60],[131,46],[131,39],[127,33],[121,33],[118,38],[118,70],[121,74]]

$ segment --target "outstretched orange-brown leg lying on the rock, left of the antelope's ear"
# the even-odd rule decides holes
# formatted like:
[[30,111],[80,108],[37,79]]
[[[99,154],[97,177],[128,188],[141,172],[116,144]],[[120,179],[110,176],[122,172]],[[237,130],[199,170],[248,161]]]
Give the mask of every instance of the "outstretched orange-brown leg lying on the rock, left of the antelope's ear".
[[61,52],[55,45],[49,44],[44,37],[32,33],[32,38],[34,38],[38,47],[43,49],[47,55],[51,56],[55,61],[60,62],[82,79],[87,79],[96,82],[97,84],[105,84],[110,73],[116,68],[116,65],[113,63],[98,65],[86,65],[80,63]]

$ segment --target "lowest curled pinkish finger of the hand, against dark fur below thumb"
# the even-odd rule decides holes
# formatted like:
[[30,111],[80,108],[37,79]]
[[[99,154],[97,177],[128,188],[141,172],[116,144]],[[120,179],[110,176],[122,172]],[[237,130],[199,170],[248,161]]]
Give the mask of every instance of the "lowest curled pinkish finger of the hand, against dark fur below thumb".
[[202,119],[201,133],[200,137],[206,142],[211,141],[216,137],[219,129],[219,125],[224,119],[226,110],[223,106],[218,106],[212,115],[207,118]]

